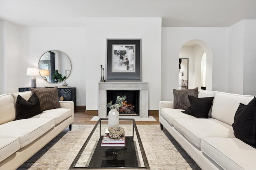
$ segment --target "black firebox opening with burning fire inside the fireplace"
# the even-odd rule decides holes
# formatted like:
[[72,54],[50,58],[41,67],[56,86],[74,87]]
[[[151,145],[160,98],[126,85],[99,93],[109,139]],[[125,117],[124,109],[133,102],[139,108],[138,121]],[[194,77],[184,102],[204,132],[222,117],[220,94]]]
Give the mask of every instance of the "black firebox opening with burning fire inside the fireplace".
[[[107,90],[107,103],[116,102],[117,96],[126,96],[123,105],[119,108],[119,115],[140,115],[140,90]],[[110,108],[107,109],[107,114]]]

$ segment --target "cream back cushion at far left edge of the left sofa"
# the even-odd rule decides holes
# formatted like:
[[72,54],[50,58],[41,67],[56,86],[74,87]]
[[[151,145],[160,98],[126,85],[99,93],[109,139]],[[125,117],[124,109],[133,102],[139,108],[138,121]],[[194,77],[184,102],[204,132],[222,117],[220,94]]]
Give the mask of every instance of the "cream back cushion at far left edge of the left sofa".
[[12,94],[0,95],[0,125],[15,119],[15,107]]

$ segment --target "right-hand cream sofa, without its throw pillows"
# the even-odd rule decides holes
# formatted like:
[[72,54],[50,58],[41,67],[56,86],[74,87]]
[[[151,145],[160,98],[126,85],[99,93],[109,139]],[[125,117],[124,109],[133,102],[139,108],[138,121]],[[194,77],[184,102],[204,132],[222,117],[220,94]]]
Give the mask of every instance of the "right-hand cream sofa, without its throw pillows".
[[254,96],[198,90],[198,98],[214,101],[208,119],[196,118],[173,109],[173,101],[159,103],[159,121],[203,170],[256,169],[256,149],[234,136],[232,123],[239,103]]

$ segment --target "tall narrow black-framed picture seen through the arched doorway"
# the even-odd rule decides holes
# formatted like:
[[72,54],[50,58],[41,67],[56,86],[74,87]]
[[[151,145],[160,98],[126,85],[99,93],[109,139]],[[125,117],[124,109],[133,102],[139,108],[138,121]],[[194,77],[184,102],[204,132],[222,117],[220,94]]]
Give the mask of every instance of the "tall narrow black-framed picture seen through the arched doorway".
[[188,59],[179,59],[178,89],[188,89]]

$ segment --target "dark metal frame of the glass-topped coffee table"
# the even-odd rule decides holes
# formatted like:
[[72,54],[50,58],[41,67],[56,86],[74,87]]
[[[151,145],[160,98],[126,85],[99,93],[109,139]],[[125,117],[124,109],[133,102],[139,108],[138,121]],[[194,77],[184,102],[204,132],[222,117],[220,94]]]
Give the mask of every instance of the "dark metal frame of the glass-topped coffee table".
[[140,139],[140,135],[136,126],[136,122],[134,121],[134,119],[124,119],[124,118],[120,118],[120,121],[132,121],[133,124],[133,131],[132,131],[132,137],[134,136],[134,130],[136,132],[136,136],[137,136],[137,140],[140,146],[140,152],[142,154],[142,159],[144,162],[144,167],[99,167],[99,168],[91,168],[91,167],[75,167],[76,163],[78,162],[78,160],[80,159],[80,156],[82,155],[82,153],[84,152],[84,149],[86,148],[86,145],[88,144],[88,142],[90,141],[92,135],[94,134],[96,128],[98,127],[98,125],[100,124],[100,134],[99,134],[99,140],[102,139],[102,135],[101,135],[101,121],[102,120],[108,120],[107,118],[100,118],[98,120],[98,122],[96,123],[96,125],[94,126],[94,128],[92,129],[92,132],[90,133],[90,135],[88,136],[88,138],[86,139],[84,145],[82,146],[82,148],[80,149],[80,151],[78,152],[76,158],[74,159],[74,161],[72,162],[69,170],[120,170],[120,169],[128,169],[128,170],[150,170],[149,164],[148,164],[148,159],[146,157],[146,153],[145,150],[143,148],[142,145],[142,141]]

